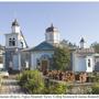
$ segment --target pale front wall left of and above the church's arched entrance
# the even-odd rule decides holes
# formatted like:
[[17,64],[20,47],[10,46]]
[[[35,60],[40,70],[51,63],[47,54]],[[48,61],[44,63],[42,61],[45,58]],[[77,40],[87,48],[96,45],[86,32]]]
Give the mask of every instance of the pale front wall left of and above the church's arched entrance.
[[42,55],[48,55],[50,57],[52,57],[52,55],[54,54],[53,51],[42,51],[42,52],[31,52],[31,69],[35,69],[36,68],[36,59],[41,58]]

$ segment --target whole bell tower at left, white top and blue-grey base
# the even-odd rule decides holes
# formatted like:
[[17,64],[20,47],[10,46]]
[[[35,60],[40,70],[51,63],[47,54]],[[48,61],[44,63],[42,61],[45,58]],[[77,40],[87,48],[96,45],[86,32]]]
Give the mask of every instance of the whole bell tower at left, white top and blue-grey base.
[[11,25],[11,33],[6,34],[6,68],[8,70],[21,70],[21,51],[26,47],[28,44],[15,19]]

